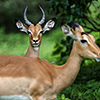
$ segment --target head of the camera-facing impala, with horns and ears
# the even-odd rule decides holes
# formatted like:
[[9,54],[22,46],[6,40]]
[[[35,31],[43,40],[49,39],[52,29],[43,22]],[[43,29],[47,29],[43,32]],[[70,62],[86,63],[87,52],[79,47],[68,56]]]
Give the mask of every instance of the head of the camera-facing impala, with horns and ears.
[[[40,7],[40,6],[39,6]],[[30,37],[30,44],[35,48],[35,47],[39,47],[41,44],[41,37],[42,34],[45,33],[46,31],[49,31],[50,29],[52,29],[54,27],[55,24],[55,18],[49,20],[45,26],[42,28],[42,24],[45,22],[45,13],[43,11],[43,9],[40,7],[43,16],[42,19],[36,24],[32,24],[26,17],[26,11],[27,11],[28,6],[26,6],[25,11],[24,11],[24,20],[26,24],[23,24],[21,21],[19,20],[15,20],[16,21],[16,26],[18,27],[18,29],[20,31],[24,31],[26,32],[29,37]]]

